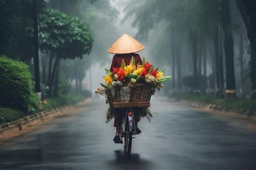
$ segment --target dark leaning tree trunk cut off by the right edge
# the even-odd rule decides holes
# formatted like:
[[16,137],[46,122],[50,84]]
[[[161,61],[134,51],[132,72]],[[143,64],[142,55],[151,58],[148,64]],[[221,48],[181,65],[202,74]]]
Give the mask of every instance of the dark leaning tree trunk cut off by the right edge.
[[256,99],[256,1],[254,0],[237,0],[238,8],[244,20],[247,36],[251,43],[251,98]]

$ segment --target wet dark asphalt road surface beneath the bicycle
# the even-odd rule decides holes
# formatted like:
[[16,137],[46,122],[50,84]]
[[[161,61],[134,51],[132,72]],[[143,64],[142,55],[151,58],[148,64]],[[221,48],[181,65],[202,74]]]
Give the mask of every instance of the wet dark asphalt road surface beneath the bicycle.
[[[127,155],[112,141],[112,122],[105,123],[107,105],[92,101],[76,116],[50,120],[17,137],[0,141],[0,169],[255,169],[256,130],[247,121],[191,110],[153,98],[150,124]],[[72,114],[72,113],[71,113]]]

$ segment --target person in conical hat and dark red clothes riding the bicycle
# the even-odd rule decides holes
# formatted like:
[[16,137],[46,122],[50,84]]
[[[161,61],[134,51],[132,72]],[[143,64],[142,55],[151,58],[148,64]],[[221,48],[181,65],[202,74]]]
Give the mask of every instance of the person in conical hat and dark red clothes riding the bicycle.
[[[120,67],[122,60],[124,59],[125,65],[129,65],[132,59],[132,56],[135,59],[136,65],[137,64],[142,64],[142,59],[137,53],[134,52],[139,52],[142,51],[145,48],[143,44],[138,42],[138,40],[132,38],[131,36],[124,34],[120,38],[114,42],[109,50],[107,52],[115,54],[112,60],[112,64],[110,67],[110,71],[113,71],[114,67]],[[117,114],[114,117],[114,127],[116,127],[116,133],[114,135],[113,141],[115,143],[121,143],[122,141],[120,140],[119,133],[120,133],[120,128],[122,125],[122,108],[116,108],[115,111]],[[118,114],[120,113],[120,114]],[[139,127],[138,127],[138,121],[140,120],[139,113],[136,112],[136,108],[134,109],[134,120],[135,120],[135,129],[137,134],[141,133]]]

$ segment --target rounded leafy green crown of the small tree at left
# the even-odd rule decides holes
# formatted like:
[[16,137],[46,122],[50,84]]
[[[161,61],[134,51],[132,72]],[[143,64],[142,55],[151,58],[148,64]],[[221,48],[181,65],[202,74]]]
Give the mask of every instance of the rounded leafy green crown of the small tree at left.
[[39,16],[39,46],[60,58],[81,58],[92,48],[91,30],[78,18],[47,9]]

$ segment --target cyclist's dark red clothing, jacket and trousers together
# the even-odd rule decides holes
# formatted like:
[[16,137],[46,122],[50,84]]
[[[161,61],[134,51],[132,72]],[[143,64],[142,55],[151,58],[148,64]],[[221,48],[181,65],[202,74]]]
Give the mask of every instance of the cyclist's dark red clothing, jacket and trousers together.
[[[111,72],[113,71],[113,67],[120,67],[121,63],[122,63],[122,59],[124,59],[125,65],[129,65],[131,62],[132,56],[135,59],[136,65],[138,63],[142,64],[142,59],[136,53],[118,54],[118,55],[114,55],[114,57],[113,57],[110,71]],[[121,112],[121,111],[117,110],[116,112]],[[139,121],[139,119],[140,119],[139,114],[135,112],[134,118],[135,118],[135,121]],[[116,127],[117,125],[119,125],[119,126],[122,125],[122,119],[123,119],[123,114],[116,114],[116,116],[114,117],[114,127]]]

